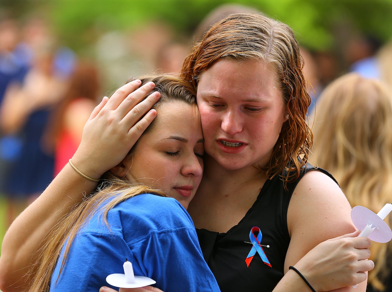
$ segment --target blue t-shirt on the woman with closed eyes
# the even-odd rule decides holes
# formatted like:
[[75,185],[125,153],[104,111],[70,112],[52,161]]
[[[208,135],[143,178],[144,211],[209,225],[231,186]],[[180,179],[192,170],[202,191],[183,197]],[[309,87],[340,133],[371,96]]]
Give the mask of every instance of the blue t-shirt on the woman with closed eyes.
[[123,274],[125,259],[131,261],[135,276],[154,279],[154,286],[165,292],[220,291],[203,259],[191,217],[175,199],[137,195],[114,206],[107,220],[110,229],[96,212],[78,231],[58,278],[65,243],[51,291],[98,292],[102,286],[111,287],[106,277]]

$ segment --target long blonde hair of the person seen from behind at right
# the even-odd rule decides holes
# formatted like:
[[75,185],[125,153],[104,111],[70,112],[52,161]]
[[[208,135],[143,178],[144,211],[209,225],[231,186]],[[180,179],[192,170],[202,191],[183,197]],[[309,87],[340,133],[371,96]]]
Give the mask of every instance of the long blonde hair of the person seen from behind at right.
[[[392,203],[392,95],[385,84],[355,73],[332,82],[316,105],[310,162],[329,171],[354,207],[377,213]],[[385,218],[392,226],[392,214]],[[368,283],[384,288],[392,243],[373,242]]]

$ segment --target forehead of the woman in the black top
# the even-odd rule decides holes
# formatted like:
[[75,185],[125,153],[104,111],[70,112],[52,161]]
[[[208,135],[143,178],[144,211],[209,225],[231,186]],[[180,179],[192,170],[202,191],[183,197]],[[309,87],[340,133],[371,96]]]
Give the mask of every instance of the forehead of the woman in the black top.
[[237,96],[244,101],[283,97],[275,67],[271,63],[256,59],[218,60],[201,74],[197,94]]

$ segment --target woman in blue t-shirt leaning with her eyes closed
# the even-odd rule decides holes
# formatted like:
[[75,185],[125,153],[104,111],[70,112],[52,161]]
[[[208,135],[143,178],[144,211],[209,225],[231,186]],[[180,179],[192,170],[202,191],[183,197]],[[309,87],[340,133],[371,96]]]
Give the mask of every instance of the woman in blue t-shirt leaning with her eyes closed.
[[[156,119],[47,235],[29,291],[98,291],[106,276],[123,273],[126,259],[137,276],[163,290],[219,290],[185,211],[203,172],[196,98],[168,74],[141,80],[154,82],[161,96]],[[181,265],[187,269],[178,270]]]

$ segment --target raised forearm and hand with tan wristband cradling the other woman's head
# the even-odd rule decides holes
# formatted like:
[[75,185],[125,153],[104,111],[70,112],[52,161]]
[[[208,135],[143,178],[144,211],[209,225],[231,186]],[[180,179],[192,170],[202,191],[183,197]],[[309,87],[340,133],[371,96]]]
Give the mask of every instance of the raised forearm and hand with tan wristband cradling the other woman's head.
[[[149,109],[159,99],[159,93],[139,103],[154,84],[147,83],[136,90],[139,86],[140,81],[124,85],[110,99],[104,97],[92,112],[85,124],[82,142],[72,158],[73,164],[85,175],[98,179],[121,162],[156,116],[156,111]],[[95,187],[96,182],[83,178],[67,164],[42,195],[15,219],[2,244],[0,290],[20,291],[26,287],[22,278],[34,252],[41,247],[42,238]]]

